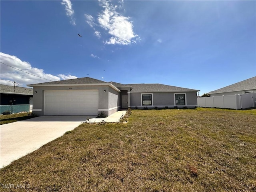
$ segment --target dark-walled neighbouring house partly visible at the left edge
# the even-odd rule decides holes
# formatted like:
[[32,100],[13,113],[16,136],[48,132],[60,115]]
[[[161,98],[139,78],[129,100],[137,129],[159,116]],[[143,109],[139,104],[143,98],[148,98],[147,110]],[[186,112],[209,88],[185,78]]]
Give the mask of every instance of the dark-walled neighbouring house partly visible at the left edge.
[[18,113],[32,111],[33,89],[0,85],[0,113]]

